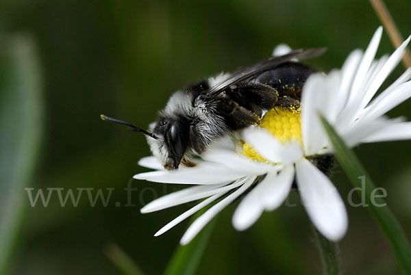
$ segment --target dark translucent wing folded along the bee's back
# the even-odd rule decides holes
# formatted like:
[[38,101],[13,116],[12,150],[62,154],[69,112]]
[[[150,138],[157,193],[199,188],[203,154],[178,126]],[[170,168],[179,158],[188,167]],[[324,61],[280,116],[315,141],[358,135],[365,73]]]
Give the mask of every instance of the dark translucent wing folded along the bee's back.
[[223,92],[225,88],[235,85],[240,81],[244,81],[245,79],[259,75],[265,70],[273,69],[276,66],[283,64],[284,62],[292,60],[293,58],[297,58],[298,60],[304,60],[319,56],[326,50],[326,48],[297,49],[291,51],[290,53],[287,53],[286,55],[270,57],[267,60],[263,60],[247,68],[241,68],[239,70],[234,71],[234,73],[232,73],[228,79],[221,83],[218,83],[214,87],[210,87],[210,89],[206,90],[204,94],[206,97],[213,98],[215,96],[218,96],[221,92]]

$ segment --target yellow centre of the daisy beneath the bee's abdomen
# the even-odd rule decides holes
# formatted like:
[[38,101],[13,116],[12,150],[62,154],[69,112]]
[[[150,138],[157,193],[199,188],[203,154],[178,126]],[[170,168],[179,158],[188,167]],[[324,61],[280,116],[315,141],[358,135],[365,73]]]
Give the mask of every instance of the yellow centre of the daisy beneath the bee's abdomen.
[[[260,127],[270,131],[281,142],[293,140],[302,144],[299,108],[271,109],[261,119]],[[242,144],[242,149],[242,154],[246,157],[256,161],[266,161],[249,144]]]

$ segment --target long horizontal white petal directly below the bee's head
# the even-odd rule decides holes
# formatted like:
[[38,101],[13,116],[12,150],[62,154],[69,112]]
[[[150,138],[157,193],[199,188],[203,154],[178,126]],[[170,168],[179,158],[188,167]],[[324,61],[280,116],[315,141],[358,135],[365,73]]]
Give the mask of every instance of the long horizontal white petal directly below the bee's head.
[[229,170],[221,164],[204,162],[196,167],[140,173],[134,175],[134,179],[145,179],[155,183],[216,184],[234,181],[247,175],[247,172]]

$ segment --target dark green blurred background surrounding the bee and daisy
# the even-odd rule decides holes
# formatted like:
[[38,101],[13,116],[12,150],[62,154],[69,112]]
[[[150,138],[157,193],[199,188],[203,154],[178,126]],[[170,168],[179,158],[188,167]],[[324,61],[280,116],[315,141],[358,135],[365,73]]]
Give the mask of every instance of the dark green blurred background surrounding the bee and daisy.
[[[386,4],[402,34],[411,34],[411,1]],[[0,214],[12,235],[0,234],[0,241],[12,253],[0,256],[8,274],[121,274],[105,255],[111,243],[145,274],[161,274],[188,223],[153,234],[189,205],[140,214],[142,205],[180,187],[131,180],[145,171],[137,165],[149,155],[145,138],[101,122],[99,114],[147,127],[173,91],[264,59],[283,42],[327,47],[310,64],[338,68],[353,49],[366,48],[379,25],[370,3],[358,0],[1,1]],[[378,56],[392,51],[384,33]],[[391,81],[402,71],[400,65]],[[400,115],[411,118],[410,101],[390,112]],[[410,148],[411,142],[356,148],[377,185],[387,189],[408,237]],[[129,181],[138,188],[136,206],[116,207],[127,201]],[[347,201],[351,185],[339,168],[333,181]],[[55,195],[48,207],[29,207],[25,187],[115,189],[107,207],[90,207],[86,194],[77,207],[60,207]],[[290,202],[297,206],[264,213],[240,233],[231,224],[236,204],[227,207],[197,273],[319,274],[306,211],[295,192]],[[345,274],[399,274],[366,209],[347,208],[349,231],[340,242]]]

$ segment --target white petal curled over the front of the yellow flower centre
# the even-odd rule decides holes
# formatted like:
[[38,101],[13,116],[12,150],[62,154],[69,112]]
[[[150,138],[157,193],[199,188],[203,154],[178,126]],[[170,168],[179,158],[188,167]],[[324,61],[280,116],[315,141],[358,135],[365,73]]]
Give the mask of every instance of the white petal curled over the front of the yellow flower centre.
[[303,156],[301,146],[297,142],[283,144],[265,129],[245,129],[243,136],[245,142],[249,143],[258,154],[274,163],[289,164]]

